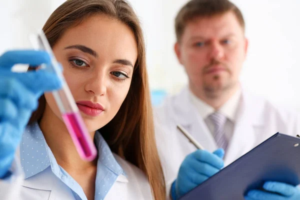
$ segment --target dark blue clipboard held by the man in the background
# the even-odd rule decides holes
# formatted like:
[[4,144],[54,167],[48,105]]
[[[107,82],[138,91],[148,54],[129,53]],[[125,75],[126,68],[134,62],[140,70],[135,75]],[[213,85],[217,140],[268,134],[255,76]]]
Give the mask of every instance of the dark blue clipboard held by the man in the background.
[[180,200],[243,200],[248,190],[261,188],[266,180],[298,185],[299,179],[300,138],[277,132]]

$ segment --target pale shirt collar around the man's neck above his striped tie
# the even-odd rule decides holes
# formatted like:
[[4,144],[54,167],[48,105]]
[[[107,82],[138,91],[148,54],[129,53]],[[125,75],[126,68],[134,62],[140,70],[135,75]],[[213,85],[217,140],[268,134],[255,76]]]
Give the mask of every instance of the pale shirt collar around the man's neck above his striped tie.
[[[241,89],[238,89],[219,109],[218,111],[224,114],[231,121],[236,120],[236,111],[239,104]],[[210,114],[215,112],[214,108],[208,105],[206,102],[195,96],[189,89],[189,96],[191,102],[196,107],[200,116],[205,119]]]

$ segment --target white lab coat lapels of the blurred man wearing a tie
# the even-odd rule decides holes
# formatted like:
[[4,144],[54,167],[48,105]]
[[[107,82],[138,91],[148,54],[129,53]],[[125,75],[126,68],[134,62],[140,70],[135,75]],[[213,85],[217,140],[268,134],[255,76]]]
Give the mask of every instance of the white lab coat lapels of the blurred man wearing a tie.
[[[241,85],[241,96],[236,111],[234,132],[230,139],[225,155],[225,165],[231,163],[242,154],[248,152],[254,145],[256,128],[262,128],[264,124],[264,100],[252,95]],[[166,101],[168,115],[173,117],[176,123],[185,127],[192,136],[200,142],[205,149],[213,151],[216,143],[209,132],[203,118],[196,111],[185,87],[181,92]]]

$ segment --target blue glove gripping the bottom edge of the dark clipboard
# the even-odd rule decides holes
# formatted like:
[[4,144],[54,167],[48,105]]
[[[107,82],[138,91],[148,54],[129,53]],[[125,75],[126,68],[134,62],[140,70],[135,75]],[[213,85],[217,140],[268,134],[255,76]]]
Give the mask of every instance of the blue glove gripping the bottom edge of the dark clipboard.
[[267,181],[262,190],[250,190],[246,200],[299,200],[300,188],[283,182]]

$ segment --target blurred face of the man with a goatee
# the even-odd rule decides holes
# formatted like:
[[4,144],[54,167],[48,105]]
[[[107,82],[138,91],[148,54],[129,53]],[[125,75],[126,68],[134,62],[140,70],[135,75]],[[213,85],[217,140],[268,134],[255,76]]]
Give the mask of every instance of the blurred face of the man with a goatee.
[[215,95],[234,87],[247,50],[244,30],[233,12],[188,22],[175,44],[191,90]]

